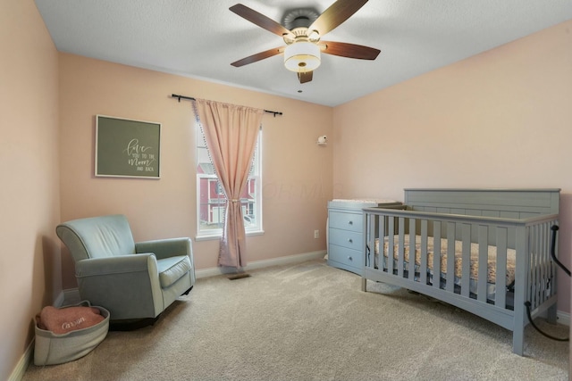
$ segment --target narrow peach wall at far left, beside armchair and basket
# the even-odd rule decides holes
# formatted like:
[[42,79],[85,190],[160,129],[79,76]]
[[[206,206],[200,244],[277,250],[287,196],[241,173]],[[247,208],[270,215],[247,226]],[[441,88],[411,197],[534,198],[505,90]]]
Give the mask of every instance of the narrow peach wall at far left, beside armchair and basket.
[[0,3],[0,379],[62,291],[57,52],[31,0]]

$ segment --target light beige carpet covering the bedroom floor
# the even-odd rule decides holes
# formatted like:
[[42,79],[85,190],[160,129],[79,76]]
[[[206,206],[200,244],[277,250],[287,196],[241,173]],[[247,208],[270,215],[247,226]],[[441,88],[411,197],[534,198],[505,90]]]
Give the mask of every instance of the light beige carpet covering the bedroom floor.
[[[109,332],[87,356],[23,380],[566,380],[568,343],[512,333],[325,261],[198,279],[153,327]],[[538,325],[551,335],[568,327]]]

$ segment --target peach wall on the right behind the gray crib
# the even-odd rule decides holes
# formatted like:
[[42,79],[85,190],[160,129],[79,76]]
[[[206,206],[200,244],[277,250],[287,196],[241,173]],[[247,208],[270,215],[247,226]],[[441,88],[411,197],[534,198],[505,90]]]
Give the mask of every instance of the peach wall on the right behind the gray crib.
[[[559,259],[569,267],[571,29],[565,22],[335,108],[334,196],[559,187]],[[570,281],[559,275],[558,309],[569,312]]]

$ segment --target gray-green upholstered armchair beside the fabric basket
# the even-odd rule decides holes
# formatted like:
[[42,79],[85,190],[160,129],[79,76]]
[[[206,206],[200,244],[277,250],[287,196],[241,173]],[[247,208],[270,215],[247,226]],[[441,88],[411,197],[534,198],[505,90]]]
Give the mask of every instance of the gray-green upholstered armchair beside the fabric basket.
[[135,243],[116,214],[74,219],[55,228],[75,262],[80,298],[111,320],[156,319],[195,284],[190,238]]

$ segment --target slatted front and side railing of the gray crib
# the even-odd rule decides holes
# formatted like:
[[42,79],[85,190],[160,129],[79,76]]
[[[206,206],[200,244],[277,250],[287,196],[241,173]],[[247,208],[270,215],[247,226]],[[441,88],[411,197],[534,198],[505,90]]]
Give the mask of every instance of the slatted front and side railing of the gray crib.
[[[403,286],[449,302],[513,331],[523,330],[527,324],[526,301],[531,302],[534,315],[551,308],[551,316],[555,320],[556,268],[550,257],[550,232],[557,223],[556,214],[506,219],[366,208],[366,262],[362,289],[366,291],[368,278]],[[430,259],[428,242],[431,239],[434,254]],[[376,240],[379,243],[377,260]],[[386,252],[383,253],[385,242]],[[456,245],[460,249],[457,254]],[[476,258],[473,254],[472,261],[471,246],[478,247],[478,254]],[[489,263],[490,247],[496,253],[492,265]],[[444,271],[442,257],[446,260]],[[475,267],[478,275],[471,280]],[[511,283],[507,282],[509,271],[514,271],[514,282]],[[491,275],[496,275],[493,277],[493,297],[489,282]],[[522,354],[523,338],[518,335],[514,340],[515,352]],[[520,350],[517,346],[521,347]]]

